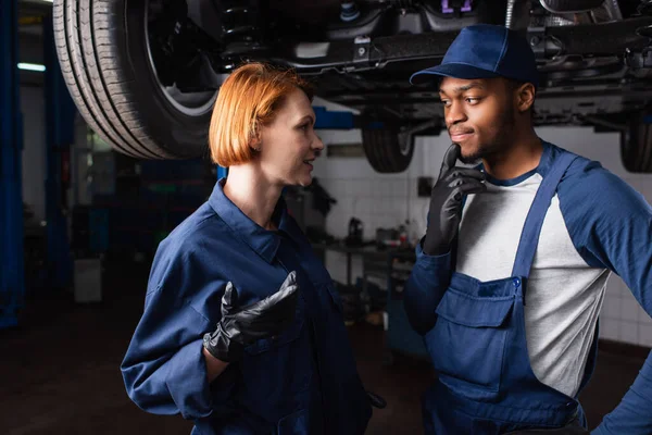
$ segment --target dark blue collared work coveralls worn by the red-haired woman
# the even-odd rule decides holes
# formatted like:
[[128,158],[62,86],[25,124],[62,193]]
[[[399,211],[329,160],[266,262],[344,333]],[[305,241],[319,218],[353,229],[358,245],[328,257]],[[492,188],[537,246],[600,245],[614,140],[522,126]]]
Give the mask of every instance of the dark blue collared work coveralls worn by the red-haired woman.
[[[223,185],[156,251],[122,364],[129,397],[146,411],[193,420],[193,434],[363,434],[371,403],[328,272],[283,199],[279,229],[269,232]],[[246,348],[209,385],[202,336],[220,321],[226,283],[244,306],[277,291],[290,271],[300,285],[294,323]]]

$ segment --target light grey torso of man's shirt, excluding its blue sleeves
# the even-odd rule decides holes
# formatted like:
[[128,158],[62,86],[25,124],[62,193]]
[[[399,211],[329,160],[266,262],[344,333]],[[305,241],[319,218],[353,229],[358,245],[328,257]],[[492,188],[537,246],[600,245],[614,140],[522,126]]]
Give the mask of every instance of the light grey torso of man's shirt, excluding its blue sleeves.
[[[488,181],[487,192],[467,198],[457,272],[480,281],[511,276],[541,181],[538,173],[500,184]],[[572,397],[581,382],[609,275],[609,270],[590,266],[577,252],[555,196],[528,279],[525,328],[539,381]]]

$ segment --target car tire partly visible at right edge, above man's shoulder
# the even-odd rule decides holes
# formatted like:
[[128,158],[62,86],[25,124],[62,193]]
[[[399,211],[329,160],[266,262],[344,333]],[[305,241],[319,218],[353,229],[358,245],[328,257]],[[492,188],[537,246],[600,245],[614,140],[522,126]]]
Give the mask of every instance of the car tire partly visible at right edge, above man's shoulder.
[[628,129],[620,135],[620,157],[629,172],[652,173],[651,115],[638,114],[629,121]]

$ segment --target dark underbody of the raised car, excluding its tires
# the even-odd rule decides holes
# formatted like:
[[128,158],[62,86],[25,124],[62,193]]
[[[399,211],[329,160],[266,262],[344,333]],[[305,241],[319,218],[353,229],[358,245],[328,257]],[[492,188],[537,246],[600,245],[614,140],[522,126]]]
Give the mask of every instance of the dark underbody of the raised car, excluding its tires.
[[[650,100],[650,3],[272,1],[225,7],[197,24],[213,28],[214,39],[233,41],[213,62],[221,72],[243,58],[271,60],[315,76],[327,100],[375,117],[415,121],[431,120],[441,108],[436,89],[410,85],[410,74],[439,62],[462,27],[504,24],[526,34],[538,55],[538,123],[568,124],[641,110]],[[344,16],[351,9],[354,18]]]

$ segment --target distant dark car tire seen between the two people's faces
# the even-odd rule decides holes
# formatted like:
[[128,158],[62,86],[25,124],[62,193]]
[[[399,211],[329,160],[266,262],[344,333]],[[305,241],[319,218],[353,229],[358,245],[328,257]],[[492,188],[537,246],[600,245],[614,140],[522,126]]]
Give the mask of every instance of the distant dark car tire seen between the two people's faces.
[[[406,147],[401,146],[406,140]],[[363,129],[362,146],[372,167],[379,173],[399,173],[410,166],[414,153],[414,136],[405,137],[393,129]]]

